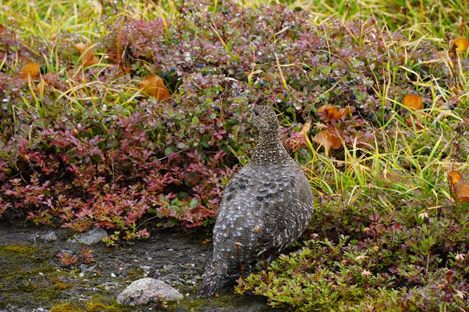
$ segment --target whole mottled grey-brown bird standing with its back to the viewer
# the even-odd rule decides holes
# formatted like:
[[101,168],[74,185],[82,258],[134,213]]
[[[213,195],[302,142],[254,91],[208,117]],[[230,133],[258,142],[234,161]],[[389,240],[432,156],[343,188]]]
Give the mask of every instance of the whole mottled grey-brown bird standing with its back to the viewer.
[[310,222],[312,191],[308,178],[280,141],[280,126],[271,107],[253,107],[259,130],[249,162],[231,178],[213,229],[213,259],[199,289],[208,297],[224,278],[265,251],[292,244]]

